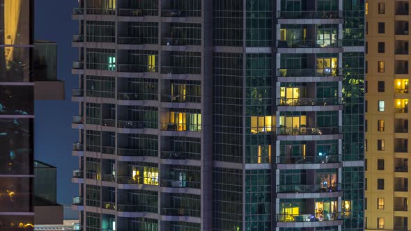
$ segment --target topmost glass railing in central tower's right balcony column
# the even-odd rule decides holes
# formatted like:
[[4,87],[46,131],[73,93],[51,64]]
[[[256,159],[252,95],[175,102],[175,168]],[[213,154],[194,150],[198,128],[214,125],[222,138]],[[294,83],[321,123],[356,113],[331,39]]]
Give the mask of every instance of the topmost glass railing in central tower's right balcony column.
[[342,11],[278,11],[279,19],[338,19]]

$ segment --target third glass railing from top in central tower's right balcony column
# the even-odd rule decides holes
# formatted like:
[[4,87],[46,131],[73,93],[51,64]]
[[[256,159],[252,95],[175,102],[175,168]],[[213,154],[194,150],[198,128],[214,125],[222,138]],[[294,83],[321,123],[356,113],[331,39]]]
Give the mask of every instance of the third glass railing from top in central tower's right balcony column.
[[342,76],[343,70],[340,68],[320,68],[320,69],[290,69],[281,68],[277,70],[277,77],[336,77]]

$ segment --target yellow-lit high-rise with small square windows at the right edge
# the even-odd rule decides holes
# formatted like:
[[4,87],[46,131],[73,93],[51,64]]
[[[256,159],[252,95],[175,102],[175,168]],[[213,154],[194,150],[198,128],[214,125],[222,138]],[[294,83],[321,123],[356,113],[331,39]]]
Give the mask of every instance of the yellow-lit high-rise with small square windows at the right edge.
[[409,1],[366,1],[366,230],[411,229],[409,17]]

